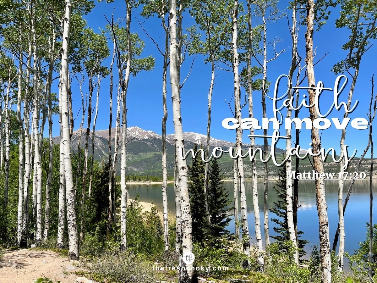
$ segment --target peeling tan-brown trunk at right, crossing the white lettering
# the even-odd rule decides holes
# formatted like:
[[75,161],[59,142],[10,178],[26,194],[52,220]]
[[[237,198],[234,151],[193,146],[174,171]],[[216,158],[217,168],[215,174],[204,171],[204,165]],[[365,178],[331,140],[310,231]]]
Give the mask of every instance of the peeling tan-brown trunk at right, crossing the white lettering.
[[[306,58],[307,72],[308,72],[308,86],[314,88],[316,81],[314,77],[313,66],[313,32],[314,32],[314,0],[307,1],[307,31],[305,33],[306,39]],[[315,103],[315,91],[309,89],[309,104]],[[309,108],[311,120],[318,118],[315,107]],[[312,126],[311,140],[313,146],[313,153],[317,154],[321,148],[321,141],[319,130]],[[323,162],[320,156],[313,156],[313,167],[318,174],[323,174]],[[325,198],[325,181],[322,178],[315,179],[316,184],[316,198],[317,198],[317,212],[319,218],[319,247],[321,257],[321,273],[322,283],[331,283],[331,251],[329,241],[329,226],[327,217],[327,205]]]

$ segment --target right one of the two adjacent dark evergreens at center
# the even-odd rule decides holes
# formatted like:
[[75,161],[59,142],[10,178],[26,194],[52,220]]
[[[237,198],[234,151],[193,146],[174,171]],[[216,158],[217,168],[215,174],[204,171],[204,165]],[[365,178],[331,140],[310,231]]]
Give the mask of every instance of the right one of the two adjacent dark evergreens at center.
[[216,158],[213,158],[208,173],[210,186],[208,187],[208,207],[211,217],[210,235],[211,245],[221,245],[222,240],[231,237],[230,232],[226,229],[231,218],[228,213],[233,208],[229,205],[229,192],[222,186],[223,173],[219,167]]

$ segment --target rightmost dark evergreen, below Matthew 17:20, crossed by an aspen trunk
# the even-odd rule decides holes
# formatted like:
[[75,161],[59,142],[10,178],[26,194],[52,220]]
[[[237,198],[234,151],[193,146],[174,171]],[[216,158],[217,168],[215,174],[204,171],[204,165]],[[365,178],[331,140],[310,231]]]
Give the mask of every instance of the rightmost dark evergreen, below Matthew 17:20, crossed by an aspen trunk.
[[[273,186],[274,190],[277,193],[278,201],[274,202],[274,207],[270,208],[270,211],[277,215],[279,218],[271,218],[271,221],[276,224],[274,227],[274,231],[279,234],[276,236],[271,236],[271,238],[275,239],[277,245],[281,251],[287,251],[287,241],[290,240],[289,233],[288,233],[288,223],[287,223],[287,194],[286,194],[286,186],[287,186],[287,171],[285,169],[285,163],[281,166],[278,174],[278,178],[276,181],[276,185]],[[299,235],[302,235],[303,232],[297,230],[297,237],[298,245],[299,245],[299,255],[302,257],[306,255],[304,251],[305,244],[309,243],[307,240],[300,239]]]

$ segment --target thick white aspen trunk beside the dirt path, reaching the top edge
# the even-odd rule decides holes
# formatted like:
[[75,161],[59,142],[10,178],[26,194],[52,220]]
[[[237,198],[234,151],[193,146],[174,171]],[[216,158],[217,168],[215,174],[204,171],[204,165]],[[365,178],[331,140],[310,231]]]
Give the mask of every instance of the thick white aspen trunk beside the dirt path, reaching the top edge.
[[61,110],[62,110],[62,132],[63,132],[63,145],[64,145],[64,170],[66,174],[66,200],[67,200],[67,225],[68,225],[68,238],[69,238],[69,258],[79,258],[78,250],[78,236],[77,236],[77,223],[75,211],[75,198],[74,198],[74,183],[72,174],[72,162],[70,152],[70,135],[69,135],[69,99],[68,99],[68,44],[69,44],[69,28],[70,28],[70,15],[71,15],[71,2],[66,0],[66,9],[64,17],[63,29],[63,46],[61,58],[61,75],[60,75],[60,89],[61,89]]

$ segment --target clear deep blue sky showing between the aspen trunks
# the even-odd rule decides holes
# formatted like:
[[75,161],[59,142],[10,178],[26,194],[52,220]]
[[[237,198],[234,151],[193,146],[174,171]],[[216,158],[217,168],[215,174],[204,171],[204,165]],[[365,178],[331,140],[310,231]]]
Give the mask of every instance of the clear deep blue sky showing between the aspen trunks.
[[[104,28],[106,25],[107,17],[111,17],[114,11],[114,17],[124,17],[126,11],[126,5],[124,1],[115,0],[113,3],[95,3],[95,8],[85,19],[88,22],[88,26],[93,28],[94,31],[99,32],[100,28]],[[288,1],[280,1],[278,4],[279,9],[282,12],[288,13],[288,17],[291,19],[291,12],[287,10]],[[139,14],[141,8],[137,8],[133,11],[132,21],[131,21],[131,31],[138,32],[139,36],[145,41],[146,47],[144,49],[143,55],[153,55],[156,58],[155,69],[150,72],[141,72],[137,77],[131,77],[129,82],[129,90],[127,93],[127,125],[128,126],[139,126],[140,128],[146,130],[155,131],[161,134],[161,118],[162,118],[162,95],[161,95],[161,77],[162,77],[162,63],[163,57],[157,51],[153,42],[147,37],[147,35],[142,31],[139,26],[138,18],[141,22],[144,21],[143,26],[149,32],[150,35],[155,38],[155,40],[162,44],[164,31],[160,25],[160,20],[158,18],[149,18],[148,20],[141,17]],[[316,82],[322,81],[326,87],[333,88],[334,82],[336,80],[336,75],[331,72],[333,65],[340,60],[345,58],[346,52],[341,49],[341,46],[348,41],[349,31],[346,28],[338,29],[335,27],[335,19],[339,16],[339,9],[332,9],[330,18],[326,25],[322,27],[319,31],[314,33],[314,46],[316,47],[316,57],[314,61],[316,62],[322,56],[328,52],[328,55],[315,66]],[[261,22],[260,19],[254,18],[254,24]],[[184,15],[183,28],[194,25],[194,20],[190,17],[188,12]],[[267,39],[272,40],[275,37],[281,39],[281,43],[277,45],[277,50],[286,48],[282,55],[280,55],[276,60],[268,64],[267,76],[268,80],[272,82],[270,93],[273,92],[274,82],[280,74],[287,74],[290,66],[290,54],[291,54],[291,37],[290,31],[288,29],[287,17],[283,17],[277,22],[268,24],[268,35]],[[302,65],[305,60],[305,26],[300,26],[299,31],[299,53],[302,59]],[[111,43],[110,43],[111,45]],[[110,46],[111,48],[111,46]],[[269,50],[271,51],[271,50]],[[371,76],[375,71],[375,46],[373,45],[369,51],[364,55],[360,75],[357,81],[356,89],[354,92],[353,101],[359,100],[359,105],[356,110],[349,115],[350,118],[363,117],[366,118],[366,113],[368,112],[370,94],[371,94]],[[270,56],[273,56],[272,53]],[[110,60],[110,59],[109,59]],[[109,65],[109,60],[107,60],[107,65]],[[181,76],[186,77],[189,71],[193,57],[186,57],[184,65],[182,66]],[[253,60],[253,65],[257,65],[256,60]],[[169,75],[169,71],[168,71]],[[207,95],[208,88],[210,84],[211,68],[210,65],[205,65],[203,62],[203,57],[197,55],[195,62],[193,63],[193,68],[189,78],[187,79],[182,92],[181,92],[181,109],[182,109],[182,123],[183,130],[185,132],[198,132],[201,134],[206,134],[207,131]],[[115,79],[116,81],[116,79]],[[284,84],[282,83],[282,86]],[[349,83],[346,89],[349,89]],[[307,80],[303,82],[302,86],[307,86]],[[81,107],[81,95],[79,92],[78,82],[72,81],[72,100],[74,113],[77,114]],[[55,85],[55,88],[57,86]],[[170,96],[170,83],[168,77],[168,111],[169,118],[167,122],[167,133],[173,133],[173,123],[172,123],[172,103]],[[57,89],[55,89],[57,91]],[[221,69],[216,70],[216,80],[215,87],[213,90],[213,103],[212,103],[212,123],[211,123],[211,136],[218,139],[234,141],[235,131],[224,129],[221,126],[221,122],[224,118],[231,117],[229,106],[225,103],[225,100],[229,101],[233,93],[233,73],[223,71]],[[305,91],[301,91],[301,97],[305,94]],[[115,91],[116,94],[116,91]],[[115,126],[115,114],[116,114],[116,98],[114,94],[113,102],[113,125]],[[242,89],[242,99],[245,95],[244,89]],[[345,91],[340,95],[340,101],[346,101],[348,92]],[[93,94],[94,96],[94,94]],[[262,118],[262,104],[261,104],[261,92],[254,92],[254,115],[256,118]],[[329,106],[333,102],[332,92],[327,92],[322,95],[321,106]],[[93,97],[93,103],[95,103],[95,98]],[[232,104],[233,105],[233,104]],[[233,108],[233,106],[232,106]],[[109,78],[103,79],[101,83],[100,92],[100,106],[99,115],[97,119],[96,129],[107,129],[109,126]],[[329,115],[331,117],[343,116],[343,111],[334,110]],[[308,109],[303,108],[300,111],[300,117],[308,117]],[[242,117],[248,117],[247,107],[242,110]],[[267,117],[273,117],[272,114],[272,103],[271,100],[267,99]],[[75,120],[75,129],[79,128],[80,115],[79,118]],[[84,122],[86,125],[86,122]],[[285,130],[282,128],[281,133]],[[58,117],[54,117],[54,135],[58,135]],[[271,134],[269,131],[268,134]],[[248,131],[244,131],[244,142],[248,142],[247,137]],[[257,134],[262,134],[262,132],[257,132]],[[324,130],[322,134],[322,146],[326,149],[333,147],[339,151],[339,139],[340,130],[331,127],[328,130]],[[363,149],[368,141],[368,130],[356,130],[351,128],[349,125],[347,128],[346,144],[349,145],[349,151],[357,149],[357,156],[362,154]],[[260,139],[257,143],[262,143]],[[300,146],[302,148],[308,148],[310,143],[309,132],[302,131],[300,136]],[[279,144],[280,148],[284,148],[284,144]]]

